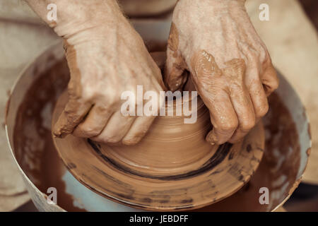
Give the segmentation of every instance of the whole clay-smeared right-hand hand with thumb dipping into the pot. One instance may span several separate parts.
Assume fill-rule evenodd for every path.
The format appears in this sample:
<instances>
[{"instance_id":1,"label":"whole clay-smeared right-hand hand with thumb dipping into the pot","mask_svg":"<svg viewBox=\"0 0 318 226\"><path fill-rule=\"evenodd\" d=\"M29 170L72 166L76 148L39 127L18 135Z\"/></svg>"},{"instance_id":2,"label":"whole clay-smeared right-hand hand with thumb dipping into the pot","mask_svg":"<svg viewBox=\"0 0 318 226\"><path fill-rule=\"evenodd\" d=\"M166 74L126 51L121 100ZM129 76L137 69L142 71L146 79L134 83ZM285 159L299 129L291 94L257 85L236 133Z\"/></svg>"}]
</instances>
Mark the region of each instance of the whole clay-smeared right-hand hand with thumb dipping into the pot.
<instances>
[{"instance_id":1,"label":"whole clay-smeared right-hand hand with thumb dipping into the pot","mask_svg":"<svg viewBox=\"0 0 318 226\"><path fill-rule=\"evenodd\" d=\"M187 70L210 110L211 143L240 141L269 109L278 88L269 52L244 0L179 0L167 47L165 83L182 89Z\"/></svg>"}]
</instances>

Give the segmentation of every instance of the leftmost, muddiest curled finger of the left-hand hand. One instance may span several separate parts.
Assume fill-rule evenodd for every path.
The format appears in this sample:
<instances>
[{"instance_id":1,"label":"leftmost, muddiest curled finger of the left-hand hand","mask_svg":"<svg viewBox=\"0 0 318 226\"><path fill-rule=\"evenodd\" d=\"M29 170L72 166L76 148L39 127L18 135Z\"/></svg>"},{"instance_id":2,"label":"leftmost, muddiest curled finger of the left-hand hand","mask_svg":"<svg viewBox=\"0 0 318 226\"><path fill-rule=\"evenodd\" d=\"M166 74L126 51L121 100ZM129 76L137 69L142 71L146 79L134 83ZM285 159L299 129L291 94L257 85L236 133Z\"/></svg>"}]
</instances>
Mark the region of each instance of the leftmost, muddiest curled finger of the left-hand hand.
<instances>
[{"instance_id":1,"label":"leftmost, muddiest curled finger of the left-hand hand","mask_svg":"<svg viewBox=\"0 0 318 226\"><path fill-rule=\"evenodd\" d=\"M81 102L81 100L71 98L54 125L54 136L63 138L67 134L72 133L73 129L88 114L91 106L89 102Z\"/></svg>"}]
</instances>

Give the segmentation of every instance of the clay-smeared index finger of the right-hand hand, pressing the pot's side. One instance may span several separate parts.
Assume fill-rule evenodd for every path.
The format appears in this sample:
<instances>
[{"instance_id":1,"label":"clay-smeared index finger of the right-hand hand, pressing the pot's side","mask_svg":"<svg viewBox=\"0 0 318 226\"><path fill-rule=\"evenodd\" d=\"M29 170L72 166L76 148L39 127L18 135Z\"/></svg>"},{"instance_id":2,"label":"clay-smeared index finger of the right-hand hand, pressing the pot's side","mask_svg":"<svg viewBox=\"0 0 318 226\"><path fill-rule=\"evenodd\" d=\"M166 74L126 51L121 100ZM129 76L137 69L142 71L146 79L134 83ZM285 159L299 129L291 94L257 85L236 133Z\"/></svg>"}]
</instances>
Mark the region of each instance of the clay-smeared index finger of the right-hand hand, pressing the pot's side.
<instances>
[{"instance_id":1,"label":"clay-smeared index finger of the right-hand hand, pressing the pot's side","mask_svg":"<svg viewBox=\"0 0 318 226\"><path fill-rule=\"evenodd\" d=\"M237 129L238 119L230 100L230 90L211 54L201 51L194 55L192 78L196 90L210 110L213 129L206 140L213 145L225 143Z\"/></svg>"}]
</instances>

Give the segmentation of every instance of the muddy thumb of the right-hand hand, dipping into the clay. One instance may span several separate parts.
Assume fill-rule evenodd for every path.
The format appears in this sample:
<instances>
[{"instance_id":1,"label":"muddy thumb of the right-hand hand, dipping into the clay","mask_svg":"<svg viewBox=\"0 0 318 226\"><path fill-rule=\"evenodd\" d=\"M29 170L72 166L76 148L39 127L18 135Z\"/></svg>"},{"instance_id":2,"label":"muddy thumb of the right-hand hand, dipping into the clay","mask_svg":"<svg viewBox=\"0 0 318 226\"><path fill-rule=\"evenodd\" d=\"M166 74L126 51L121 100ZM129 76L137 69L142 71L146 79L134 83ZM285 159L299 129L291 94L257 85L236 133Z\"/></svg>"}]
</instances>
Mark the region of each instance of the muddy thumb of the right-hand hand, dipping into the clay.
<instances>
[{"instance_id":1,"label":"muddy thumb of the right-hand hand, dipping into the clay","mask_svg":"<svg viewBox=\"0 0 318 226\"><path fill-rule=\"evenodd\" d=\"M183 74L186 69L184 60L178 52L179 33L174 23L171 25L169 40L167 44L167 61L165 64L165 84L172 90L178 90L187 81Z\"/></svg>"}]
</instances>

